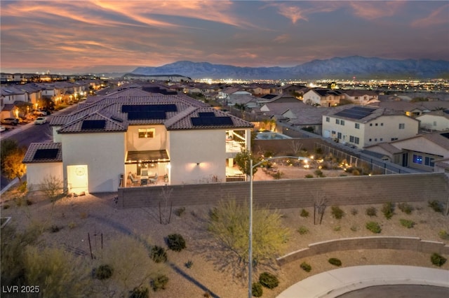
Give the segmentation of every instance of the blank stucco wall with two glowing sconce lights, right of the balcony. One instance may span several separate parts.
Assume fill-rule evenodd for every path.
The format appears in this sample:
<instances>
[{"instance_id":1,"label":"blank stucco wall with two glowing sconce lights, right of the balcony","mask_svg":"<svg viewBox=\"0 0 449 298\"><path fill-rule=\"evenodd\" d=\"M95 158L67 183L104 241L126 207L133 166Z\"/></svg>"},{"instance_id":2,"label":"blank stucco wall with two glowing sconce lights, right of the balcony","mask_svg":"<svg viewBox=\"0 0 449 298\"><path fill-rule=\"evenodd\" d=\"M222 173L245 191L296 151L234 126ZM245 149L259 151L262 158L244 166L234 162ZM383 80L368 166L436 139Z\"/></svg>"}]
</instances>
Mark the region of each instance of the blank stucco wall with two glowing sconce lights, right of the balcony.
<instances>
[{"instance_id":1,"label":"blank stucco wall with two glowing sconce lights, right of the balcony","mask_svg":"<svg viewBox=\"0 0 449 298\"><path fill-rule=\"evenodd\" d=\"M170 131L168 136L170 184L226 180L226 129Z\"/></svg>"}]
</instances>

